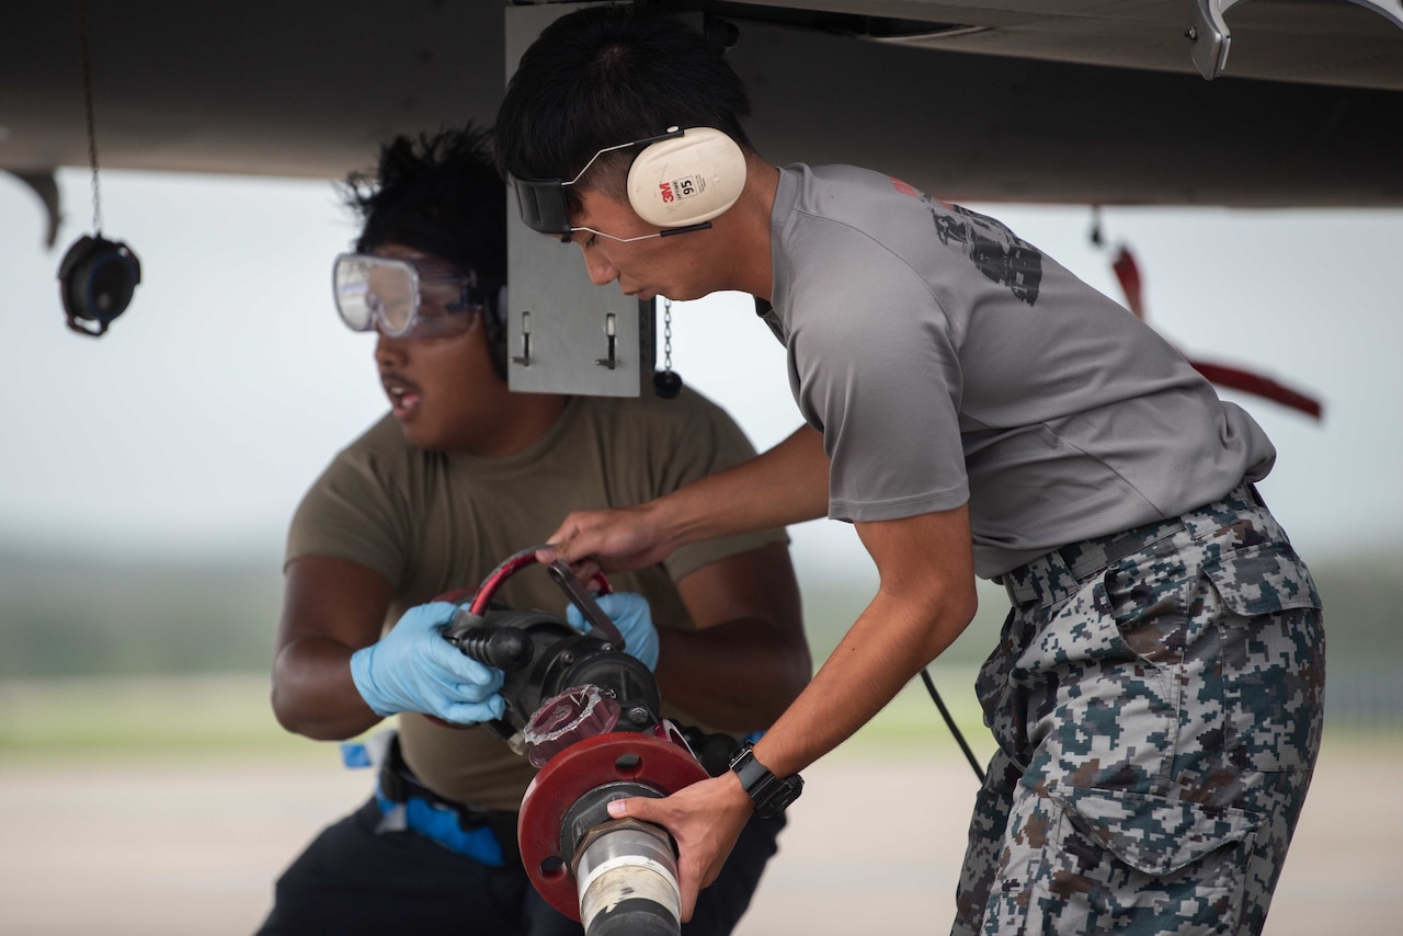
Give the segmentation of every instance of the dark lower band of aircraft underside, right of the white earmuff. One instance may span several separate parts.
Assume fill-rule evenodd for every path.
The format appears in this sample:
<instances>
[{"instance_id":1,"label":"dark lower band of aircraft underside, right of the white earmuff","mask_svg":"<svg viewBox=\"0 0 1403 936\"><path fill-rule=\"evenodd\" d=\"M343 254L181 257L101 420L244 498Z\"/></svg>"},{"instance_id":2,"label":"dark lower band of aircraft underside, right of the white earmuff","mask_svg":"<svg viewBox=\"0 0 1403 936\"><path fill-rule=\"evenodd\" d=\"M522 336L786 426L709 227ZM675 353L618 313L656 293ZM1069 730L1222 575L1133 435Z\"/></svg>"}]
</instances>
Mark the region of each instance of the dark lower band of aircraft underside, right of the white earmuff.
<instances>
[{"instance_id":1,"label":"dark lower band of aircraft underside, right of the white earmuff","mask_svg":"<svg viewBox=\"0 0 1403 936\"><path fill-rule=\"evenodd\" d=\"M870 166L965 201L1403 205L1400 91L1205 81L767 24L742 25L730 55L772 161Z\"/></svg>"}]
</instances>

